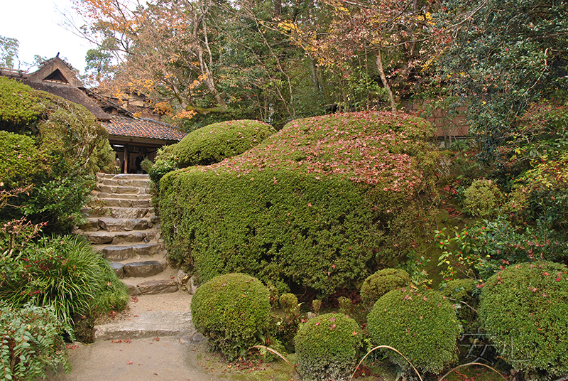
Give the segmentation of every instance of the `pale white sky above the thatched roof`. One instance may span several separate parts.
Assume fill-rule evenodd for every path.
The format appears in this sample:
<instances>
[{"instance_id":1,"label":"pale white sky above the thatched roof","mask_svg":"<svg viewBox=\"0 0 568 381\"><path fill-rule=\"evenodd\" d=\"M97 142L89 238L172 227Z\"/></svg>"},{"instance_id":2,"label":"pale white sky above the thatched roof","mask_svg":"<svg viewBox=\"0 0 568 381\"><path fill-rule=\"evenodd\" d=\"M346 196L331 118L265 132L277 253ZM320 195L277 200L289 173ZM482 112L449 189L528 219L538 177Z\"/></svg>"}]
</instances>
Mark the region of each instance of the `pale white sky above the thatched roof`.
<instances>
[{"instance_id":1,"label":"pale white sky above the thatched roof","mask_svg":"<svg viewBox=\"0 0 568 381\"><path fill-rule=\"evenodd\" d=\"M71 0L0 0L0 10L0 36L19 41L20 61L32 63L34 55L53 58L60 53L60 58L84 74L84 56L93 46L60 26L65 21L62 14L77 20ZM28 70L28 65L20 69Z\"/></svg>"}]
</instances>

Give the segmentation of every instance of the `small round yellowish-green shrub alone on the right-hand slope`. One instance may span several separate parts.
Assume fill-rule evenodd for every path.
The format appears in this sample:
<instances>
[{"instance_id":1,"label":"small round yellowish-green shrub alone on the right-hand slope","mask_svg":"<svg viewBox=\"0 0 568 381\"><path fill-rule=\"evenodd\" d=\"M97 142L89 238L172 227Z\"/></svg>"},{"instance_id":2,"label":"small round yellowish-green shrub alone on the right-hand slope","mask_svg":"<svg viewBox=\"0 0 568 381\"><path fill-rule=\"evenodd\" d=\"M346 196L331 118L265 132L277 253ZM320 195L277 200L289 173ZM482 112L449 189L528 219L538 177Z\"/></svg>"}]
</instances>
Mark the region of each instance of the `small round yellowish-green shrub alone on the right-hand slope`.
<instances>
[{"instance_id":1,"label":"small round yellowish-green shrub alone on the right-hand slope","mask_svg":"<svg viewBox=\"0 0 568 381\"><path fill-rule=\"evenodd\" d=\"M464 204L469 214L480 217L495 215L503 195L491 180L476 180L464 192Z\"/></svg>"}]
</instances>

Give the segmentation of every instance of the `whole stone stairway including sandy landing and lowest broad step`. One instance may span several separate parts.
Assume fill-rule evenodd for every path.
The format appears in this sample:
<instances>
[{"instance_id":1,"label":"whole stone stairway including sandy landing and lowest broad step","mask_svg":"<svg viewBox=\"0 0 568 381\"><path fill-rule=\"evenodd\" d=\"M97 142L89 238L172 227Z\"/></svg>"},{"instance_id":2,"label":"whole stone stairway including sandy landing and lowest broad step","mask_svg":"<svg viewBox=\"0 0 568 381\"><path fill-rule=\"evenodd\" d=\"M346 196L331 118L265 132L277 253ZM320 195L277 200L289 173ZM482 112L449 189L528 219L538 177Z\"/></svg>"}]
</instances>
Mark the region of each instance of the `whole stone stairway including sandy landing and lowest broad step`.
<instances>
[{"instance_id":1,"label":"whole stone stairway including sandy landing and lowest broad step","mask_svg":"<svg viewBox=\"0 0 568 381\"><path fill-rule=\"evenodd\" d=\"M87 223L75 231L109 259L131 294L128 317L94 326L94 340L200 337L190 313L195 287L168 266L149 183L148 175L97 173L92 202L83 210Z\"/></svg>"}]
</instances>

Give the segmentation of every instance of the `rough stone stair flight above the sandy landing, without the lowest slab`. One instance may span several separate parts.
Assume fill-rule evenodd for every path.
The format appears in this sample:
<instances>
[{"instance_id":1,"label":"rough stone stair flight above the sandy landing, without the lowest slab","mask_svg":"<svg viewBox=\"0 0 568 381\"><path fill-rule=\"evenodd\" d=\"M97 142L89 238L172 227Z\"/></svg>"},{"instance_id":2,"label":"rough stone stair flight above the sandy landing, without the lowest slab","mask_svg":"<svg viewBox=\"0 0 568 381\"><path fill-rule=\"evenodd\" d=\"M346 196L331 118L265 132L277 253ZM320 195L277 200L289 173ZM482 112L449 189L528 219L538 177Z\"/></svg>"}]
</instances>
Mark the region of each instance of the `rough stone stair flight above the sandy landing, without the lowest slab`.
<instances>
[{"instance_id":1,"label":"rough stone stair flight above the sandy landing, without the lowest slab","mask_svg":"<svg viewBox=\"0 0 568 381\"><path fill-rule=\"evenodd\" d=\"M93 199L82 212L84 235L111 262L131 295L178 291L153 212L148 175L97 173Z\"/></svg>"}]
</instances>

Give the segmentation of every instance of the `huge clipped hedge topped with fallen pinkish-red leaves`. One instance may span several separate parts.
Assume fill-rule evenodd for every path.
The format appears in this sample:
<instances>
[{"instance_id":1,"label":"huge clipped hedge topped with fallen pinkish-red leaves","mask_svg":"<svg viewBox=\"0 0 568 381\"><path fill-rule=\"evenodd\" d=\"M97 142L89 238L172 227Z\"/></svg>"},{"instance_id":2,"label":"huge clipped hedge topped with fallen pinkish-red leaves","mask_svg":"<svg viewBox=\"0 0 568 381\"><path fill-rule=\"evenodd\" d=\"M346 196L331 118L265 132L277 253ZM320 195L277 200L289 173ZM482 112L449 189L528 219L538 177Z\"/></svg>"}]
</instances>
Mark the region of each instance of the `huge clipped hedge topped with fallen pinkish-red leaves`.
<instances>
[{"instance_id":1,"label":"huge clipped hedge topped with fallen pinkish-red leaves","mask_svg":"<svg viewBox=\"0 0 568 381\"><path fill-rule=\"evenodd\" d=\"M168 173L161 229L201 281L247 272L332 293L400 260L432 192L434 130L406 114L290 122L240 156Z\"/></svg>"}]
</instances>

